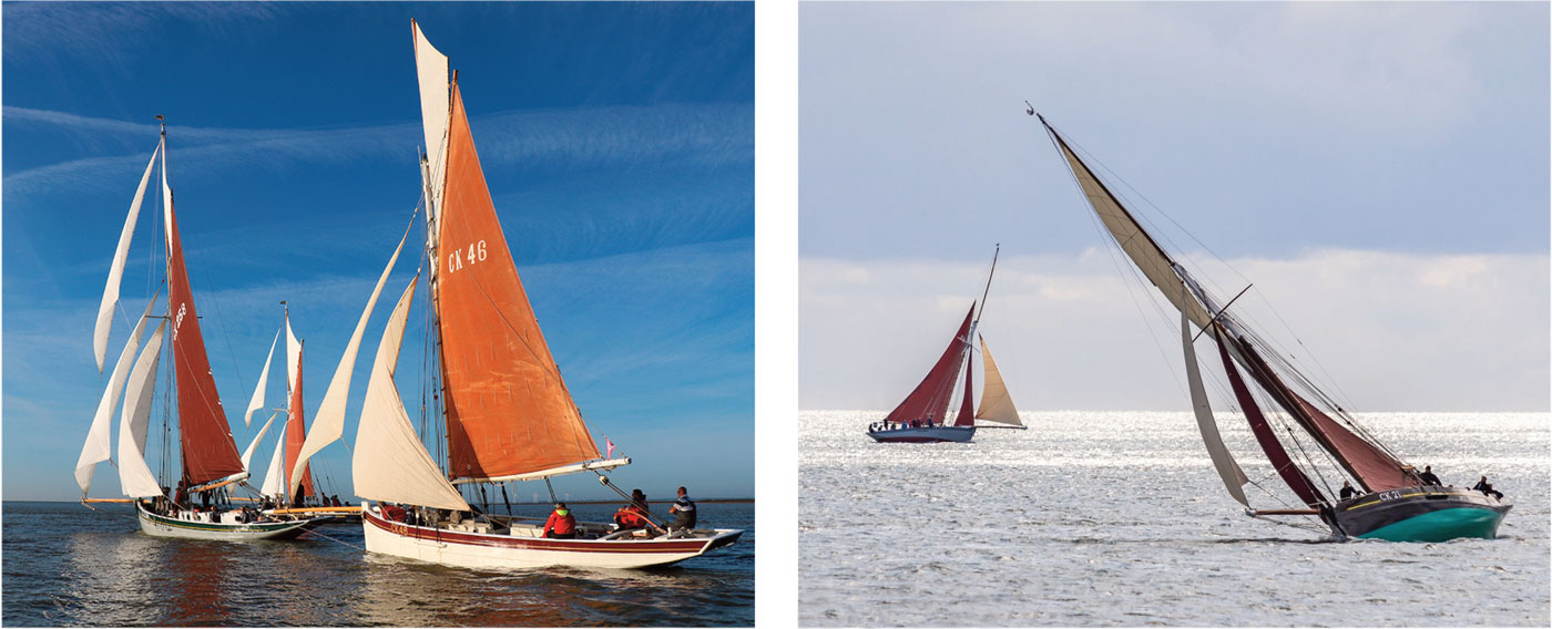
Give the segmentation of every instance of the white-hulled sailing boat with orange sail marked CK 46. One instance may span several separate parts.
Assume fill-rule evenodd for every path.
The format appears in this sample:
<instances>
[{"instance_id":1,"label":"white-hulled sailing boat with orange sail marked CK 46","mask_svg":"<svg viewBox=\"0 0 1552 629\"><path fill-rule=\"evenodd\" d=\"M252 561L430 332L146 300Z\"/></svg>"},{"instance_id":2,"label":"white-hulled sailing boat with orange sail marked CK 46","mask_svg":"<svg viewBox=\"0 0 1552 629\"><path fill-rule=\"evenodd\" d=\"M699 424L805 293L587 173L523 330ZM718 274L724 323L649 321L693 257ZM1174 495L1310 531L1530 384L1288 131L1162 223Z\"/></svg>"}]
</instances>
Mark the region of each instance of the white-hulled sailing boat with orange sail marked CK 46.
<instances>
[{"instance_id":1,"label":"white-hulled sailing boat with orange sail marked CK 46","mask_svg":"<svg viewBox=\"0 0 1552 629\"><path fill-rule=\"evenodd\" d=\"M501 483L504 496L504 483L512 480L548 485L554 476L591 471L618 493L604 471L629 465L630 459L599 454L518 279L475 153L458 77L449 81L447 57L431 48L413 20L411 36L428 147L421 163L427 284L441 347L449 469L427 452L393 381L416 274L377 345L351 459L355 494L363 499L366 550L462 567L639 569L733 544L743 531L650 534L602 524L579 524L574 539L551 539L542 527L517 517L473 514L453 486ZM362 324L402 248L400 239Z\"/></svg>"}]
</instances>

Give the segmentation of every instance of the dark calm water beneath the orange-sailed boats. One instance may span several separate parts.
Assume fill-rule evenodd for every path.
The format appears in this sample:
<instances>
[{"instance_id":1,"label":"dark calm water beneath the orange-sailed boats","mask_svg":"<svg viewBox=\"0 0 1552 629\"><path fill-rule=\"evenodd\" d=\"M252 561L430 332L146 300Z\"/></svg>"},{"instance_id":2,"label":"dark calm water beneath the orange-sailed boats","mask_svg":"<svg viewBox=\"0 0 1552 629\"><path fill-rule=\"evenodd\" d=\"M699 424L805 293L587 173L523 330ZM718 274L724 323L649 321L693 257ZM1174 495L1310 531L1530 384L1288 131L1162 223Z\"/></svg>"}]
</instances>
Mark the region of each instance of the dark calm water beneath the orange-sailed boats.
<instances>
[{"instance_id":1,"label":"dark calm water beneath the orange-sailed boats","mask_svg":"<svg viewBox=\"0 0 1552 629\"><path fill-rule=\"evenodd\" d=\"M318 530L332 539L203 542L140 533L129 505L5 502L3 624L754 624L754 505L698 507L703 527L743 538L653 572L492 572L368 556L359 522ZM573 508L604 522L615 510Z\"/></svg>"}]
</instances>

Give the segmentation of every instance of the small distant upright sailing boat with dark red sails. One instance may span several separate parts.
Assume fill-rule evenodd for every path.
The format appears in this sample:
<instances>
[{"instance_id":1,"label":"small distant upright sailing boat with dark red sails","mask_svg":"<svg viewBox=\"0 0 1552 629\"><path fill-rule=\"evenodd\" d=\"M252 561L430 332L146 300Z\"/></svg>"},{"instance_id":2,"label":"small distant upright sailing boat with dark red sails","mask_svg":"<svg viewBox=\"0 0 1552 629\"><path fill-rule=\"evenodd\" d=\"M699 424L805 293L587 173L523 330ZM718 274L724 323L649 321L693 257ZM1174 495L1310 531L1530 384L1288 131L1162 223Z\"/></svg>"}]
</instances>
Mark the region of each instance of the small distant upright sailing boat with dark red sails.
<instances>
[{"instance_id":1,"label":"small distant upright sailing boat with dark red sails","mask_svg":"<svg viewBox=\"0 0 1552 629\"><path fill-rule=\"evenodd\" d=\"M986 311L986 296L992 290L992 274L996 273L996 254L1001 249L999 245L996 253L992 254L992 271L987 273L986 291L981 293L981 311ZM922 383L905 397L900 406L889 411L889 415L883 421L868 424L868 437L883 443L967 443L975 438L975 420L978 415L972 400L975 387L970 376L970 339L975 338L975 328L979 324L981 318L976 314L976 304L972 302L964 322L959 324L959 330L954 332L944 353L937 356L937 363L933 363L933 369L927 372L927 378L922 378ZM981 342L984 344L986 341L982 339ZM986 401L990 398L995 406L993 412L999 421L1006 423L1009 414L1012 414L1012 420L1017 423L1018 411L1013 409L1013 403L1007 397L1003 376L996 372L996 364L990 363L992 355L984 352L982 355L990 367L987 370L989 378L996 378L995 389L990 387L989 380L987 394L981 400L982 411L986 409ZM954 423L950 424L948 403L954 394L954 383L959 380L961 370L965 373L964 401L959 404Z\"/></svg>"}]
</instances>

